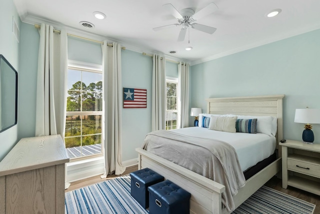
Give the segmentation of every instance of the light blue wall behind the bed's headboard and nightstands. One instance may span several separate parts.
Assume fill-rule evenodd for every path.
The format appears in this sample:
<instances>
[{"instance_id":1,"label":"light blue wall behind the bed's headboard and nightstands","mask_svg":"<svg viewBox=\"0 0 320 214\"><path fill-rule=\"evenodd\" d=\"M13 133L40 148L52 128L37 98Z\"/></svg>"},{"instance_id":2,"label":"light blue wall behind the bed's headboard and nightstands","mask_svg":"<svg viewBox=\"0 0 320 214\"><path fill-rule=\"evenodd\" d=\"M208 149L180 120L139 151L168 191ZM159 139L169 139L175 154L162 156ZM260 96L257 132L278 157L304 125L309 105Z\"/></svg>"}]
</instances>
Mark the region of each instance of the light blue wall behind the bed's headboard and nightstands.
<instances>
[{"instance_id":1,"label":"light blue wall behind the bed's headboard and nightstands","mask_svg":"<svg viewBox=\"0 0 320 214\"><path fill-rule=\"evenodd\" d=\"M301 140L295 109L320 108L319 38L316 30L191 66L190 107L206 112L205 98L284 94L284 138ZM312 130L320 143L320 124Z\"/></svg>"}]
</instances>

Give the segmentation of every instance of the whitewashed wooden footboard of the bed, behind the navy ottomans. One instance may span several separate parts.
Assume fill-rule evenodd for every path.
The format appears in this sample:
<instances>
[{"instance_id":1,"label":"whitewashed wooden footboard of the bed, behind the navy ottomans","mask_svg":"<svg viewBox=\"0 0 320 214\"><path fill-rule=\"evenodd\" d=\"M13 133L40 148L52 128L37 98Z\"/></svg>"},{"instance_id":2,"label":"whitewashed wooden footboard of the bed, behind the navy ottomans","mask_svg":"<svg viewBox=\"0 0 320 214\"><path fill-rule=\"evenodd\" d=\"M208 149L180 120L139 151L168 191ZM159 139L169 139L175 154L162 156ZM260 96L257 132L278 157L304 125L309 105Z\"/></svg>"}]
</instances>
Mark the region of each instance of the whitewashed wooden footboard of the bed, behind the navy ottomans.
<instances>
[{"instance_id":1,"label":"whitewashed wooden footboard of the bed, behind the navy ottomans","mask_svg":"<svg viewBox=\"0 0 320 214\"><path fill-rule=\"evenodd\" d=\"M225 186L141 148L138 169L150 168L191 193L190 213L221 213L221 193Z\"/></svg>"}]
</instances>

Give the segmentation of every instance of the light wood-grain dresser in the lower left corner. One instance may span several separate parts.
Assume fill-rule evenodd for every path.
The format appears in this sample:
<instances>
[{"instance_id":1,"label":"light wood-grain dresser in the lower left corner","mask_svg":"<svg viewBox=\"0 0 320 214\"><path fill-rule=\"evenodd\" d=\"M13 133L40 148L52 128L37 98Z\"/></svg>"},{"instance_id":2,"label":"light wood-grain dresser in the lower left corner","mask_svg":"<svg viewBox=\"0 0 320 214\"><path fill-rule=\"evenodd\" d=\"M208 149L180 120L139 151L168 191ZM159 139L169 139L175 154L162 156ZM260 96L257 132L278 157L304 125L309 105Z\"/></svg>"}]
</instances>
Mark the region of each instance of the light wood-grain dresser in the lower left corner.
<instances>
[{"instance_id":1,"label":"light wood-grain dresser in the lower left corner","mask_svg":"<svg viewBox=\"0 0 320 214\"><path fill-rule=\"evenodd\" d=\"M0 162L0 213L64 213L60 135L22 138Z\"/></svg>"}]
</instances>

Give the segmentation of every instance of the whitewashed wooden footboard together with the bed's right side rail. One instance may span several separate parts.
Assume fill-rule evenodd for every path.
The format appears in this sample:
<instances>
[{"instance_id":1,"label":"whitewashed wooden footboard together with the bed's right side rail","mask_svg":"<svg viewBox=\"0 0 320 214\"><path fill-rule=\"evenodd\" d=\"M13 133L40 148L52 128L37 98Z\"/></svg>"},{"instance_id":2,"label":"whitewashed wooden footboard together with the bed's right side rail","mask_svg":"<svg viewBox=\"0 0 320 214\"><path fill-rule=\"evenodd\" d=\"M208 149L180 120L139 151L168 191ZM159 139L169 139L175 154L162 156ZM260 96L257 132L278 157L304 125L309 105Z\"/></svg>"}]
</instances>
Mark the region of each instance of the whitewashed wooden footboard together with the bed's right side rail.
<instances>
[{"instance_id":1,"label":"whitewashed wooden footboard together with the bed's right side rail","mask_svg":"<svg viewBox=\"0 0 320 214\"><path fill-rule=\"evenodd\" d=\"M223 208L221 200L221 193L225 191L224 185L144 149L136 148L135 150L138 152L138 169L148 167L191 193L190 213L228 213ZM280 170L280 159L278 158L246 181L245 186L233 197L236 207Z\"/></svg>"}]
</instances>

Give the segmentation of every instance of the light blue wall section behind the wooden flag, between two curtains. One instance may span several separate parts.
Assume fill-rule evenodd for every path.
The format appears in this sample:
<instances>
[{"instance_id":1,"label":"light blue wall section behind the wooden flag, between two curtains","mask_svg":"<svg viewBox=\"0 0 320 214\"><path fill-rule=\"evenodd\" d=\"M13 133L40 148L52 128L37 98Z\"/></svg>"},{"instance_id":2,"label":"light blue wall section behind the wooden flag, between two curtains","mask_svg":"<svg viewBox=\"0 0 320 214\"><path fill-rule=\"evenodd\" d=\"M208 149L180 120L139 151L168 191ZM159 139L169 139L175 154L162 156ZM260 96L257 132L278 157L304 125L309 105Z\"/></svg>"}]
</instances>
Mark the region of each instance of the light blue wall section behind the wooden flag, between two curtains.
<instances>
[{"instance_id":1,"label":"light blue wall section behind the wooden flag, between two curtains","mask_svg":"<svg viewBox=\"0 0 320 214\"><path fill-rule=\"evenodd\" d=\"M137 158L135 148L141 147L151 131L152 58L133 51L121 52L122 87L146 89L146 108L122 109L122 160Z\"/></svg>"}]
</instances>

